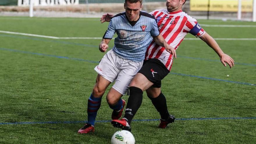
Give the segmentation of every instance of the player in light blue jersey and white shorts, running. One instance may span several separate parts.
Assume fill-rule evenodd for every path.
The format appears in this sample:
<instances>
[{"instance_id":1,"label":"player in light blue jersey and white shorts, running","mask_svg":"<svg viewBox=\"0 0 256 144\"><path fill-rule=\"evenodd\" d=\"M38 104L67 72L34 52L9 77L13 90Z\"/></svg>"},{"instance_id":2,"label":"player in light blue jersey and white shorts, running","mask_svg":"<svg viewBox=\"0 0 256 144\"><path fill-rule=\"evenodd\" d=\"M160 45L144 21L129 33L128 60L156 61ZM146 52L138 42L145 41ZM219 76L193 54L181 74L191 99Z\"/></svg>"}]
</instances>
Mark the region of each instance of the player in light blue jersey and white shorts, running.
<instances>
[{"instance_id":1,"label":"player in light blue jersey and white shorts, running","mask_svg":"<svg viewBox=\"0 0 256 144\"><path fill-rule=\"evenodd\" d=\"M146 49L152 40L176 57L174 48L160 35L154 16L141 11L142 0L125 0L124 7L125 12L111 19L99 45L99 50L105 52L113 35L117 33L118 37L115 38L113 49L108 51L95 67L98 75L88 99L88 122L79 129L80 134L94 132L95 118L102 96L114 81L115 84L106 99L113 109L112 119L117 120L121 117L125 107L125 101L121 97L125 95L131 80L141 69Z\"/></svg>"}]
</instances>

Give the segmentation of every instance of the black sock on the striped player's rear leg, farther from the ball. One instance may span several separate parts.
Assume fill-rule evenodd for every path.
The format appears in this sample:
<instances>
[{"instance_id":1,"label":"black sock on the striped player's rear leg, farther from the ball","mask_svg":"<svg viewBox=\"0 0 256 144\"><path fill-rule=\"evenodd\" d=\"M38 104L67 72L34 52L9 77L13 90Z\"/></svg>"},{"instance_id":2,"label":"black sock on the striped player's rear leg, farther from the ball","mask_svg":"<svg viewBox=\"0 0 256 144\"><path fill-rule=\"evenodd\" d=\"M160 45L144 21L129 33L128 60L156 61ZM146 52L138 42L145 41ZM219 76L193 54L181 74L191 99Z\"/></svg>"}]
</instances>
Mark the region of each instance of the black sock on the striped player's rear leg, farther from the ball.
<instances>
[{"instance_id":1,"label":"black sock on the striped player's rear leg, farther from the ball","mask_svg":"<svg viewBox=\"0 0 256 144\"><path fill-rule=\"evenodd\" d=\"M151 99L151 102L153 103L157 111L160 113L161 119L167 120L170 114L167 109L166 98L162 94L162 92L156 98L152 98L152 97L149 97L149 98Z\"/></svg>"}]
</instances>

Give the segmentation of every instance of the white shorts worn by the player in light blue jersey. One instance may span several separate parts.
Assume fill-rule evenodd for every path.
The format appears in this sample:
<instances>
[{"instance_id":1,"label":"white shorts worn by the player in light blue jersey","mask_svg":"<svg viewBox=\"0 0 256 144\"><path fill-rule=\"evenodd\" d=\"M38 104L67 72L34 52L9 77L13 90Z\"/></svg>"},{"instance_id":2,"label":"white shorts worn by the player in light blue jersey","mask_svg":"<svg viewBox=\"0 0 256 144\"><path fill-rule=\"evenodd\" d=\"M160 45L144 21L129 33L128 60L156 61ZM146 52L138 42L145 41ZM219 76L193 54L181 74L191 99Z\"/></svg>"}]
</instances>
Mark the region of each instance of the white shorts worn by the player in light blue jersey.
<instances>
[{"instance_id":1,"label":"white shorts worn by the player in light blue jersey","mask_svg":"<svg viewBox=\"0 0 256 144\"><path fill-rule=\"evenodd\" d=\"M120 58L111 49L104 55L94 70L108 81L115 81L112 88L125 95L131 80L141 69L142 65L143 61L135 62Z\"/></svg>"}]
</instances>

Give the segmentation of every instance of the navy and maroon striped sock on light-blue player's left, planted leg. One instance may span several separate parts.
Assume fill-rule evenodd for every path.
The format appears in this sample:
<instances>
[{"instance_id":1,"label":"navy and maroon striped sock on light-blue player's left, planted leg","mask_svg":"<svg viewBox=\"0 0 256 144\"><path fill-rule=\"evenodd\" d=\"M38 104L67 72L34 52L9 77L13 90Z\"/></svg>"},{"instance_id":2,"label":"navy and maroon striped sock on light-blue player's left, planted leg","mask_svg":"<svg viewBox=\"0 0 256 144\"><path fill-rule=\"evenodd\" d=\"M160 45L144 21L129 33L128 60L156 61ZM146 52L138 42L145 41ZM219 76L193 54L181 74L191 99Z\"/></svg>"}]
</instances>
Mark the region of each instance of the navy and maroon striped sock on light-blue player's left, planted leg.
<instances>
[{"instance_id":1,"label":"navy and maroon striped sock on light-blue player's left, planted leg","mask_svg":"<svg viewBox=\"0 0 256 144\"><path fill-rule=\"evenodd\" d=\"M90 98L88 99L88 107L87 107L87 113L88 113L88 123L94 126L94 122L96 119L97 111L100 108L101 104L101 98L93 97L91 94Z\"/></svg>"}]
</instances>

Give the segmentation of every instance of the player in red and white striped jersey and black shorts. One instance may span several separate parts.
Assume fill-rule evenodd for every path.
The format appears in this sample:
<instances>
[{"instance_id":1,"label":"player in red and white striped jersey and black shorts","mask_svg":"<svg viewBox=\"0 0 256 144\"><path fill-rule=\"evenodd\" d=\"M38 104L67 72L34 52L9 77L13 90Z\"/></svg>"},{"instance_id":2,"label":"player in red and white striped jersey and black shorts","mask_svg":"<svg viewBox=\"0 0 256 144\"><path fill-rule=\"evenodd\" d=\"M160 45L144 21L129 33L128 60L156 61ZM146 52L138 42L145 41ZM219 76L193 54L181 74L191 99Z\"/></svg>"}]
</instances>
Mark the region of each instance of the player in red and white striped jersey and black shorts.
<instances>
[{"instance_id":1,"label":"player in red and white striped jersey and black shorts","mask_svg":"<svg viewBox=\"0 0 256 144\"><path fill-rule=\"evenodd\" d=\"M234 66L234 60L221 50L217 42L200 27L196 19L182 11L185 2L186 0L167 0L167 9L154 10L150 13L157 19L159 31L166 42L176 50L186 34L191 33L205 41L218 54L224 66L227 66L226 63L230 68ZM101 21L109 21L110 17L112 17L111 14L105 14ZM113 120L111 123L114 127L131 130L130 123L141 106L144 90L160 113L159 127L165 128L169 123L174 122L175 117L169 114L166 98L161 93L161 80L170 72L173 57L154 40L151 42L146 51L143 67L130 83L130 97L125 116L121 120Z\"/></svg>"}]
</instances>

